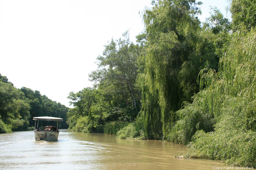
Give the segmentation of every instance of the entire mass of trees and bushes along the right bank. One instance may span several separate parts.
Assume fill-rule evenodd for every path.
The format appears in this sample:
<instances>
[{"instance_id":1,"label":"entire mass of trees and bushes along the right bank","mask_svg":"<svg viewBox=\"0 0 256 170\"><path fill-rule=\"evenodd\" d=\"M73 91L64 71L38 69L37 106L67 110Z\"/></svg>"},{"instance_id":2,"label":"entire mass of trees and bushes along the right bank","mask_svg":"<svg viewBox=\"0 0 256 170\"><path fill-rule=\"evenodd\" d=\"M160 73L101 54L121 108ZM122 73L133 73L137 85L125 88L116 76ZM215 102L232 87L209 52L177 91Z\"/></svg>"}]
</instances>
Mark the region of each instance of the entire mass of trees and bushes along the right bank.
<instances>
[{"instance_id":1,"label":"entire mass of trees and bushes along the right bank","mask_svg":"<svg viewBox=\"0 0 256 170\"><path fill-rule=\"evenodd\" d=\"M105 46L95 87L69 94L70 129L188 145L188 157L256 167L255 0L230 0L232 21L200 1L158 0L137 44Z\"/></svg>"}]
</instances>

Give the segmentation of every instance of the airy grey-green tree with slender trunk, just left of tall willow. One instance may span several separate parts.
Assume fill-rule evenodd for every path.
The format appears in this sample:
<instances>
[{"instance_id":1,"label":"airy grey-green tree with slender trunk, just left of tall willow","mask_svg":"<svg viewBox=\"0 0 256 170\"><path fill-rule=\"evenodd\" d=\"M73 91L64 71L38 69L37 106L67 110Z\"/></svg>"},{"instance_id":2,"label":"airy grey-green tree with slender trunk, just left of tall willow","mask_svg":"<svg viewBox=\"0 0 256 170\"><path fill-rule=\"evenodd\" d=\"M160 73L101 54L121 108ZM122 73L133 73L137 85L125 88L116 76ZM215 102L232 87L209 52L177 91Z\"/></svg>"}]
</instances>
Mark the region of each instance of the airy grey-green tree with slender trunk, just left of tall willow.
<instances>
[{"instance_id":1,"label":"airy grey-green tree with slender trunk, just left of tall willow","mask_svg":"<svg viewBox=\"0 0 256 170\"><path fill-rule=\"evenodd\" d=\"M126 101L131 104L137 115L140 109L140 91L136 89L138 66L136 61L140 55L139 45L129 41L128 32L123 34L123 39L112 41L105 46L102 56L98 56L98 70L91 72L91 80L101 84L113 84L116 91L126 96ZM104 85L105 86L105 85ZM139 103L139 104L138 104ZM128 103L129 104L129 103Z\"/></svg>"}]
</instances>

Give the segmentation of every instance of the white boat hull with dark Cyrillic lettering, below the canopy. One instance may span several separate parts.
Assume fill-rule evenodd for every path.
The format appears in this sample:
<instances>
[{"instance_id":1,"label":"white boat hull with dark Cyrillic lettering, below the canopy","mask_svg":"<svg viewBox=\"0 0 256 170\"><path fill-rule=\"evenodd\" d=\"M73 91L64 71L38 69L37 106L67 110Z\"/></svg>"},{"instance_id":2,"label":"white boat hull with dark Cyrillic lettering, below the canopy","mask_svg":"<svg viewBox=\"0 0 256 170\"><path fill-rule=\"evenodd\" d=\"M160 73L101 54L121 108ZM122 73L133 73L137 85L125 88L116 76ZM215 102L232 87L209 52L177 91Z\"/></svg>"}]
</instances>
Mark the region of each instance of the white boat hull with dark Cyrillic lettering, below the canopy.
<instances>
[{"instance_id":1,"label":"white boat hull with dark Cyrillic lettering, below the canopy","mask_svg":"<svg viewBox=\"0 0 256 170\"><path fill-rule=\"evenodd\" d=\"M44 130L44 131L35 131L35 141L58 141L59 132Z\"/></svg>"}]
</instances>

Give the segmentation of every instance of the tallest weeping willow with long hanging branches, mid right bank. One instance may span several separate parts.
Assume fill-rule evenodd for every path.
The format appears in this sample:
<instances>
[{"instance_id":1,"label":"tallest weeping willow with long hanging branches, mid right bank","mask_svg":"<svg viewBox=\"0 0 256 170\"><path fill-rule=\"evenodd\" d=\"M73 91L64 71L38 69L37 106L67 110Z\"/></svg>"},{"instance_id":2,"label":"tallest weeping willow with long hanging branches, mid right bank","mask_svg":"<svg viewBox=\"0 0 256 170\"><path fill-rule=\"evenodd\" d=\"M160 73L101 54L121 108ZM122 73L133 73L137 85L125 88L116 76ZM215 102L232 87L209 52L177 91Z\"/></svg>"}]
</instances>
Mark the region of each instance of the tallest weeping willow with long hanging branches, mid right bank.
<instances>
[{"instance_id":1,"label":"tallest weeping willow with long hanging branches, mid right bank","mask_svg":"<svg viewBox=\"0 0 256 170\"><path fill-rule=\"evenodd\" d=\"M141 80L144 87L140 115L145 129L150 130L159 122L162 129L147 131L148 138L155 138L157 131L165 135L166 127L176 120L174 112L197 92L196 77L201 62L195 50L201 29L197 5L201 2L159 0L152 3L154 7L143 13L148 48Z\"/></svg>"}]
</instances>

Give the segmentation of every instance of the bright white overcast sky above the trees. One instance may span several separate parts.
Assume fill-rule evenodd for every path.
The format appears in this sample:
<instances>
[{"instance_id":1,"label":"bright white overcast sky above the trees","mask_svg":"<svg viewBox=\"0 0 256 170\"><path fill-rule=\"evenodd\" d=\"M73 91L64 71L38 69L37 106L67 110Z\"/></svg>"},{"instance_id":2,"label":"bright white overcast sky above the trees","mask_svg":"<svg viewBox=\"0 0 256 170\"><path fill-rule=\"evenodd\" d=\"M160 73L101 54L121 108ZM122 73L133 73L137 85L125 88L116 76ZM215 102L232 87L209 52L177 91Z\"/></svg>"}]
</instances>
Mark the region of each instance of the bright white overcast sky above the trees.
<instances>
[{"instance_id":1,"label":"bright white overcast sky above the trees","mask_svg":"<svg viewBox=\"0 0 256 170\"><path fill-rule=\"evenodd\" d=\"M226 0L201 0L202 16L210 5L226 16ZM151 0L0 0L0 73L17 88L69 106L69 92L92 86L104 45L129 29L143 31L141 12ZM140 11L140 14L139 14Z\"/></svg>"}]
</instances>

